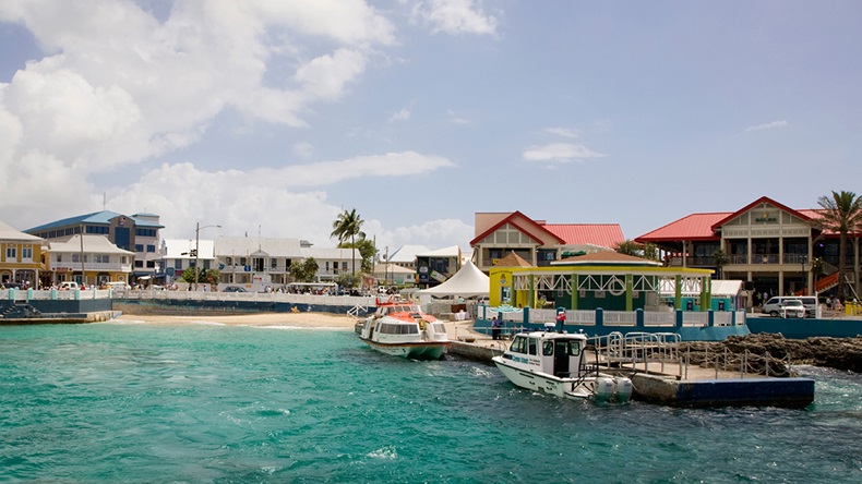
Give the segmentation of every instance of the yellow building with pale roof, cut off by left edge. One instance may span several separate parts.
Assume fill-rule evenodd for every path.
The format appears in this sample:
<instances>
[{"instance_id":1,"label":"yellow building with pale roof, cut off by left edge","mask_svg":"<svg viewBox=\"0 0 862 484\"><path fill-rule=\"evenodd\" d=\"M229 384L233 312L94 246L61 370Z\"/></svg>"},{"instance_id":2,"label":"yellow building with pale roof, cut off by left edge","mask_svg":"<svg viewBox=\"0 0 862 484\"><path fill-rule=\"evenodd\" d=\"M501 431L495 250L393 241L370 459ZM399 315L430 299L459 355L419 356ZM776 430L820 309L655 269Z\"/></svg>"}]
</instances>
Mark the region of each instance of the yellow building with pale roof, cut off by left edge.
<instances>
[{"instance_id":1,"label":"yellow building with pale roof, cut off by left edge","mask_svg":"<svg viewBox=\"0 0 862 484\"><path fill-rule=\"evenodd\" d=\"M0 221L0 283L37 287L50 280L43 261L43 239Z\"/></svg>"}]
</instances>

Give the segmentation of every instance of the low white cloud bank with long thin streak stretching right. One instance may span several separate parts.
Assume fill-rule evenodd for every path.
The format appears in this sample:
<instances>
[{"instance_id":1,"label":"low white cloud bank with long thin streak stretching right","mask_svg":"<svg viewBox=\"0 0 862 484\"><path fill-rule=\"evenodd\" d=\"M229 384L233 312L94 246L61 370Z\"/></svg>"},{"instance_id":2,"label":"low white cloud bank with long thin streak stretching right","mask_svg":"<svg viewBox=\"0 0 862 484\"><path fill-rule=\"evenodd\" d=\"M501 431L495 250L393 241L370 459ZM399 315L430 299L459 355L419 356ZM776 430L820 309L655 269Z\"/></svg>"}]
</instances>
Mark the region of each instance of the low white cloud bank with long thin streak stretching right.
<instances>
[{"instance_id":1,"label":"low white cloud bank with long thin streak stretching right","mask_svg":"<svg viewBox=\"0 0 862 484\"><path fill-rule=\"evenodd\" d=\"M145 208L159 214L161 225L172 233L166 235L169 238L188 234L195 221L206 220L220 225L225 234L247 230L256 233L258 225L262 225L266 237L302 238L327 246L333 243L328 234L340 208L330 205L326 192L314 187L381 174L424 174L452 166L445 158L414 152L277 169L206 171L189 162L166 164L144 173L130 186L112 189L108 193L108 209L131 214ZM219 193L231 195L206 195ZM419 233L423 239L433 234Z\"/></svg>"}]
</instances>

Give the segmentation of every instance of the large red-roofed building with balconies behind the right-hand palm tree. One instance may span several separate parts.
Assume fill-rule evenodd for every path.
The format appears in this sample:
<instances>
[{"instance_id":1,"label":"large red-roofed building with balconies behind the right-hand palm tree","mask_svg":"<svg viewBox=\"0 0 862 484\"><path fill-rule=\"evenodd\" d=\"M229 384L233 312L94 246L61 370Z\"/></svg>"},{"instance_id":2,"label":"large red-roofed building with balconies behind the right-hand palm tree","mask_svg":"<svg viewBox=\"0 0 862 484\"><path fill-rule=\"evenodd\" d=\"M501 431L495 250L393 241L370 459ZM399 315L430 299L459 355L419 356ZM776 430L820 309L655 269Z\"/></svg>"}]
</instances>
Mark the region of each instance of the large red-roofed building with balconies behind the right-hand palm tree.
<instances>
[{"instance_id":1,"label":"large red-roofed building with balconies behind the right-hand palm tree","mask_svg":"<svg viewBox=\"0 0 862 484\"><path fill-rule=\"evenodd\" d=\"M840 280L839 234L819 230L818 217L815 209L763 196L734 211L685 216L635 241L655 244L667 266L714 269L718 278L741 279L758 294L813 294ZM860 235L848 238L843 277L857 293Z\"/></svg>"}]
</instances>

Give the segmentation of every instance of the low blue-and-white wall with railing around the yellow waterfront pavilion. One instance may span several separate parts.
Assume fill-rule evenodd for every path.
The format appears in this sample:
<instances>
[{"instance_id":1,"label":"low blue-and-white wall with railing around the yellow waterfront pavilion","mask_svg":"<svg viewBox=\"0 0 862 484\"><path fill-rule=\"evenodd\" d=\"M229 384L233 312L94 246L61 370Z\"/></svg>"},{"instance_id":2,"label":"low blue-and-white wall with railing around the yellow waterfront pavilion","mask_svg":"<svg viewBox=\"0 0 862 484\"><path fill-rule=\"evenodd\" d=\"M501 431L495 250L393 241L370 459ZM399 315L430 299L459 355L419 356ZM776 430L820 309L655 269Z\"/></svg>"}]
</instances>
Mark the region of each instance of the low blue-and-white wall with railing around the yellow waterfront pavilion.
<instances>
[{"instance_id":1,"label":"low blue-and-white wall with railing around the yellow waterfront pavilion","mask_svg":"<svg viewBox=\"0 0 862 484\"><path fill-rule=\"evenodd\" d=\"M556 310L531 310L529 307L514 312L498 312L491 306L479 306L474 329L491 332L491 319L503 320L503 334L511 335L524 330L547 329L552 324L560 330ZM747 335L751 331L746 324L744 311L732 312L689 312L689 311L606 311L565 310L565 324L562 329L567 332L584 332L587 336L607 336L611 332L674 332L683 341L721 341L732 335ZM787 320L787 319L782 319Z\"/></svg>"}]
</instances>

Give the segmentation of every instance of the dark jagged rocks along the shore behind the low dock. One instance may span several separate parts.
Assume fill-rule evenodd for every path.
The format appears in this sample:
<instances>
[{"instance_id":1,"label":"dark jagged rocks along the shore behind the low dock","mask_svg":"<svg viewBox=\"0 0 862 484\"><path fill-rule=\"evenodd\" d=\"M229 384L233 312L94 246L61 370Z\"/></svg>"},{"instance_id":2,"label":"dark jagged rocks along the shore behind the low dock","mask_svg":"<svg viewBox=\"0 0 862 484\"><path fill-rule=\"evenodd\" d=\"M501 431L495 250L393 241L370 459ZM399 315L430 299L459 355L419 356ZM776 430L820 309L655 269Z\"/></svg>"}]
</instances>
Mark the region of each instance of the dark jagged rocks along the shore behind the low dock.
<instances>
[{"instance_id":1,"label":"dark jagged rocks along the shore behind the low dock","mask_svg":"<svg viewBox=\"0 0 862 484\"><path fill-rule=\"evenodd\" d=\"M770 355L769 373L779 376L786 373L775 360L785 360L790 364L809 364L841 371L862 373L862 338L814 337L804 340L787 339L781 334L757 334L730 336L721 342L693 341L682 343L682 352L690 352L692 361L703 361L707 354L729 352L762 356ZM764 365L759 370L766 373Z\"/></svg>"}]
</instances>

